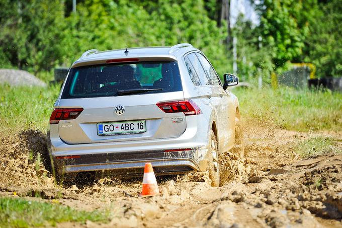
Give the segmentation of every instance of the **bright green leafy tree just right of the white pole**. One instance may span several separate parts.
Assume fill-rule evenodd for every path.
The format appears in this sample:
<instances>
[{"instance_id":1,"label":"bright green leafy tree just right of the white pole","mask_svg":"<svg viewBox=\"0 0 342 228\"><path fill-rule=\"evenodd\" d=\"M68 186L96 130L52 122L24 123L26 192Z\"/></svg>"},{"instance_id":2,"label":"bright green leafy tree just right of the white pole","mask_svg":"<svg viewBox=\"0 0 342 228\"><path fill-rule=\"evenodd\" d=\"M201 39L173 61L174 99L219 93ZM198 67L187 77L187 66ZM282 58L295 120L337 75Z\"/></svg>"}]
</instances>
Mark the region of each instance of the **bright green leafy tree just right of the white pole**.
<instances>
[{"instance_id":1,"label":"bright green leafy tree just right of the white pole","mask_svg":"<svg viewBox=\"0 0 342 228\"><path fill-rule=\"evenodd\" d=\"M302 53L308 33L307 25L298 24L303 3L296 0L264 0L258 5L261 16L259 26L263 45L270 46L274 63L281 67L286 61ZM302 20L306 18L301 16Z\"/></svg>"}]
</instances>

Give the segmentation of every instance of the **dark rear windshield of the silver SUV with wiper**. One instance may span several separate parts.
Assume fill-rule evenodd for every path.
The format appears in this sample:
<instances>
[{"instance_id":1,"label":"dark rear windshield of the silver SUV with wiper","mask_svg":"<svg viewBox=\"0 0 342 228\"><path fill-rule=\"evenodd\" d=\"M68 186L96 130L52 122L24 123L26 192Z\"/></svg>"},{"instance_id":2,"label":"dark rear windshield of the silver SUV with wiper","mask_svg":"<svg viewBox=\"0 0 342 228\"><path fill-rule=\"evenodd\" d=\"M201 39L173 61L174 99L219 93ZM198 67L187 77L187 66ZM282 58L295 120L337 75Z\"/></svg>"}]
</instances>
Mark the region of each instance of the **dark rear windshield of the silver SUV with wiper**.
<instances>
[{"instance_id":1,"label":"dark rear windshield of the silver SUV with wiper","mask_svg":"<svg viewBox=\"0 0 342 228\"><path fill-rule=\"evenodd\" d=\"M134 93L127 93L134 92ZM88 65L71 68L62 99L182 91L176 61Z\"/></svg>"}]
</instances>

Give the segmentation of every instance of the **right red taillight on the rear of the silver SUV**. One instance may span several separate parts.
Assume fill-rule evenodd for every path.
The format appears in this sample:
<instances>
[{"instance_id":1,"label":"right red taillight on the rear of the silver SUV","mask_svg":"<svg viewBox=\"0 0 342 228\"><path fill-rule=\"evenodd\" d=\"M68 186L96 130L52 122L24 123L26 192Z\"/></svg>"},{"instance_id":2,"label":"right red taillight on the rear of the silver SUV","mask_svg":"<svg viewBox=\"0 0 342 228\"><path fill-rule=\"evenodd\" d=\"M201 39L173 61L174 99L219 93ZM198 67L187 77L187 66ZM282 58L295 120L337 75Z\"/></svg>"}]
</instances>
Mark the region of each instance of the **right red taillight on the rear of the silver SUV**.
<instances>
[{"instance_id":1,"label":"right red taillight on the rear of the silver SUV","mask_svg":"<svg viewBox=\"0 0 342 228\"><path fill-rule=\"evenodd\" d=\"M166 113L183 112L186 116L201 114L201 109L192 100L158 102L156 104Z\"/></svg>"}]
</instances>

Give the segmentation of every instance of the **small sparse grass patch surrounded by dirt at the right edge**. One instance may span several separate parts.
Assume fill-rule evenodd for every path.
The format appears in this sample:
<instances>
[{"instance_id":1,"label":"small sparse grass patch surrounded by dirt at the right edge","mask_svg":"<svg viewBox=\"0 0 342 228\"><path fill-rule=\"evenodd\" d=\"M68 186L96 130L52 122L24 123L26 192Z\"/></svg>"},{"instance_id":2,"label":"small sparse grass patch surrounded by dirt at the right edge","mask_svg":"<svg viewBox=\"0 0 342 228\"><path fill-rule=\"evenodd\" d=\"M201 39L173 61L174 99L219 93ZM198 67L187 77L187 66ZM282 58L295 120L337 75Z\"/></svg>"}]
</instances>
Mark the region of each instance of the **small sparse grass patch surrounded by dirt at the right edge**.
<instances>
[{"instance_id":1,"label":"small sparse grass patch surrounded by dirt at the right edge","mask_svg":"<svg viewBox=\"0 0 342 228\"><path fill-rule=\"evenodd\" d=\"M314 136L298 143L294 151L302 158L327 153L342 153L341 147L337 144L337 139L322 136Z\"/></svg>"}]
</instances>

